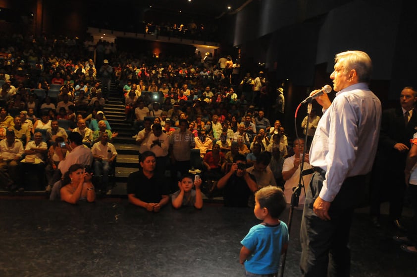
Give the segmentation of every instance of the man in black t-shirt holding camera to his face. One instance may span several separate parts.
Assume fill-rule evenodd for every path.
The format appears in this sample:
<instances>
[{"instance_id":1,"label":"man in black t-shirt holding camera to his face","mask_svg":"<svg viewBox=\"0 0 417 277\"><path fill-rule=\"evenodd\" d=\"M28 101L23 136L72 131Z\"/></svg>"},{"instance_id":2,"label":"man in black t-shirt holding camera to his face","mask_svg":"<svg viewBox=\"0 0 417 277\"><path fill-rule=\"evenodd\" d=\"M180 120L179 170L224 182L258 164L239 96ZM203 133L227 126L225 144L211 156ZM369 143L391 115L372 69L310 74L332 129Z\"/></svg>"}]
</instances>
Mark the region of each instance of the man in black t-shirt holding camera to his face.
<instances>
[{"instance_id":1,"label":"man in black t-shirt holding camera to his face","mask_svg":"<svg viewBox=\"0 0 417 277\"><path fill-rule=\"evenodd\" d=\"M217 182L223 189L223 202L226 207L248 207L248 201L257 190L255 176L246 171L246 158L237 154L230 170Z\"/></svg>"}]
</instances>

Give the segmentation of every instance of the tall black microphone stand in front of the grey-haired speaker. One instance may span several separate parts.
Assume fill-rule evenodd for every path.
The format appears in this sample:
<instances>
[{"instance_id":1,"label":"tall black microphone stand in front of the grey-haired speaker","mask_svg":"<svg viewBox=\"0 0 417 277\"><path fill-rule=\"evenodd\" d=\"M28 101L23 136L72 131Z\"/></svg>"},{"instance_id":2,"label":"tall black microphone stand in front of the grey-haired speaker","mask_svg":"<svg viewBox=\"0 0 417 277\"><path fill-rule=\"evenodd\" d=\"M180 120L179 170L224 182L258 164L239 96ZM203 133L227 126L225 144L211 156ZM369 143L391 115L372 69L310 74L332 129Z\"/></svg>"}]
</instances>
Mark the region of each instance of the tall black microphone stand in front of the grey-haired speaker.
<instances>
[{"instance_id":1,"label":"tall black microphone stand in front of the grey-haired speaker","mask_svg":"<svg viewBox=\"0 0 417 277\"><path fill-rule=\"evenodd\" d=\"M303 155L303 160L300 160L300 176L298 178L298 186L293 187L293 193L291 195L290 212L288 214L288 224L287 224L288 234L290 234L290 232L291 232L294 207L298 207L298 202L299 202L299 199L300 199L301 190L304 189L304 193L306 193L304 185L301 184L301 180L303 178L304 158L305 158L305 154L306 154L306 151L307 151L307 135L308 135L308 130L309 130L309 118L310 118L311 111L312 111L312 103L310 101L310 103L307 105L306 136L305 136L304 148L303 148L303 152L302 152L303 153L302 154ZM295 127L296 127L296 130L297 130L297 115L294 118L294 124L296 125ZM298 136L297 136L297 138L298 138ZM301 153L301 152L299 151L299 153ZM287 250L285 250L285 252L282 254L282 264L281 264L281 275L280 275L280 277L284 276L284 269L285 269L286 259L287 259Z\"/></svg>"}]
</instances>

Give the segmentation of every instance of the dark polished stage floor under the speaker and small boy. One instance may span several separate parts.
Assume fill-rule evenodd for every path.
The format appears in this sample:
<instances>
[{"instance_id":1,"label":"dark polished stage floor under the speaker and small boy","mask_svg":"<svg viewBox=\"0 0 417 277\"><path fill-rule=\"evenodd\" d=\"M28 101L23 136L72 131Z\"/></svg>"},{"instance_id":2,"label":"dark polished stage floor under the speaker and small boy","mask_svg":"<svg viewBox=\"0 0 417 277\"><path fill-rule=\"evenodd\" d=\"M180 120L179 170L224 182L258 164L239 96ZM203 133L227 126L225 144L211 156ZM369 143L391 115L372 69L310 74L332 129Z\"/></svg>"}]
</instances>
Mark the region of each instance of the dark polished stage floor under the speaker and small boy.
<instances>
[{"instance_id":1,"label":"dark polished stage floor under the speaker and small boy","mask_svg":"<svg viewBox=\"0 0 417 277\"><path fill-rule=\"evenodd\" d=\"M242 277L240 240L259 223L249 208L212 203L153 214L118 198L0 199L0 211L0 277ZM286 277L300 276L301 213L294 211ZM417 255L401 251L394 234L373 229L358 210L351 276L416 277Z\"/></svg>"}]
</instances>

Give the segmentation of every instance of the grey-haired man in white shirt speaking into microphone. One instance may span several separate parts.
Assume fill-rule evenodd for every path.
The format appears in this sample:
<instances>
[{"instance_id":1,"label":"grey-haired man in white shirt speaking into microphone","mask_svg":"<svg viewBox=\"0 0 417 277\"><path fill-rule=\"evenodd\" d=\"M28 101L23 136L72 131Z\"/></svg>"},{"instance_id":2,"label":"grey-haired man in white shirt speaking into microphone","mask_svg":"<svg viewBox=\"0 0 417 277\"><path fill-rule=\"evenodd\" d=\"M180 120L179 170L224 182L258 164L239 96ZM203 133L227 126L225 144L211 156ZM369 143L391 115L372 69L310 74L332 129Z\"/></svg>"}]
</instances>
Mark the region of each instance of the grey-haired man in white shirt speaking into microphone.
<instances>
[{"instance_id":1,"label":"grey-haired man in white shirt speaking into microphone","mask_svg":"<svg viewBox=\"0 0 417 277\"><path fill-rule=\"evenodd\" d=\"M336 55L336 97L323 107L310 149L315 171L306 193L300 241L302 276L350 276L349 230L365 191L381 123L381 102L368 88L372 62L362 51ZM311 95L318 92L314 90Z\"/></svg>"}]
</instances>

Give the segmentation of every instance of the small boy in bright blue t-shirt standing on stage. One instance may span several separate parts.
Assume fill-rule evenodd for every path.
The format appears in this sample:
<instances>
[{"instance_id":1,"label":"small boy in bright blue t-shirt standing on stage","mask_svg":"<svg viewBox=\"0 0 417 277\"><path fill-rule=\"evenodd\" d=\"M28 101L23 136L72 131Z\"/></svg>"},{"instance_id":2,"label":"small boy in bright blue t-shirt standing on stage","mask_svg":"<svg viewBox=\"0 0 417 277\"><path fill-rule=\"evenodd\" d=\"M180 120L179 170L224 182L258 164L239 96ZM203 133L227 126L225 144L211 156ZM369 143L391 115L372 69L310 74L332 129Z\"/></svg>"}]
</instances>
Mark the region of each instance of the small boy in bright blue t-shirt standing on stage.
<instances>
[{"instance_id":1,"label":"small boy in bright blue t-shirt standing on stage","mask_svg":"<svg viewBox=\"0 0 417 277\"><path fill-rule=\"evenodd\" d=\"M288 227L278 217L286 201L281 189L267 186L255 194L255 216L261 224L251 228L241 241L240 263L245 265L245 277L276 277L281 254L288 246Z\"/></svg>"}]
</instances>

